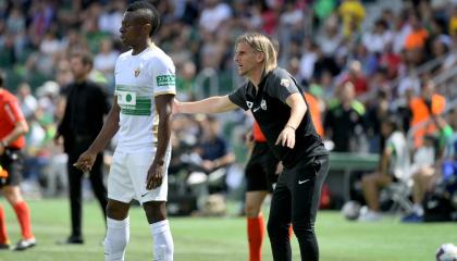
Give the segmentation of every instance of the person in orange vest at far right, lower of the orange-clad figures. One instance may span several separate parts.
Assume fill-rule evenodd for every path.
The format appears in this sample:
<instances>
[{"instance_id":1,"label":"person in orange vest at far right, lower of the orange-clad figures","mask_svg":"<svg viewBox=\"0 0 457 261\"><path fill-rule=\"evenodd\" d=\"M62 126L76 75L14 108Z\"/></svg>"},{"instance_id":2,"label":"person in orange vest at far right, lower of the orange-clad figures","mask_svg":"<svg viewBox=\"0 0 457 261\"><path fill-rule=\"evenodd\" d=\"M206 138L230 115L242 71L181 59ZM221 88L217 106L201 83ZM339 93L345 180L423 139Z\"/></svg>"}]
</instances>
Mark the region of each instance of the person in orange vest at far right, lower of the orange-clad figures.
<instances>
[{"instance_id":1,"label":"person in orange vest at far right, lower of the orange-clad figures","mask_svg":"<svg viewBox=\"0 0 457 261\"><path fill-rule=\"evenodd\" d=\"M412 98L409 102L409 110L411 111L410 128L416 129L413 130L415 148L422 145L425 135L437 130L435 124L430 121L430 115L442 114L445 107L446 99L435 94L434 83L431 79L425 80L422 85L421 96Z\"/></svg>"}]
</instances>

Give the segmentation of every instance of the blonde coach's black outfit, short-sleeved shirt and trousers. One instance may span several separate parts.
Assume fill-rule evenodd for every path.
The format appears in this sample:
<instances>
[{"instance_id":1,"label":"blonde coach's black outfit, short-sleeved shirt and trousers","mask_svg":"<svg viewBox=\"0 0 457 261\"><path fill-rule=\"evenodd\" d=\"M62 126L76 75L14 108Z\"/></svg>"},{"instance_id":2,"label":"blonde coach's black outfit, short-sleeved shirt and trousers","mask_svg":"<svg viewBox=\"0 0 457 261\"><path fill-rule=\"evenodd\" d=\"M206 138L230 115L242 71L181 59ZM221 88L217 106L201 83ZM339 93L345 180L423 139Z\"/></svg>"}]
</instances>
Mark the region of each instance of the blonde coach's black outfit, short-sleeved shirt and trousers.
<instances>
[{"instance_id":1,"label":"blonde coach's black outfit, short-sleeved shirt and trousers","mask_svg":"<svg viewBox=\"0 0 457 261\"><path fill-rule=\"evenodd\" d=\"M291 117L286 99L304 90L287 71L276 67L264 75L256 91L248 82L228 99L250 110L284 171L273 190L268 232L275 261L292 260L288 227L292 222L300 246L301 260L319 260L314 221L323 181L329 171L329 152L316 133L309 110L295 132L293 149L275 146Z\"/></svg>"}]
</instances>

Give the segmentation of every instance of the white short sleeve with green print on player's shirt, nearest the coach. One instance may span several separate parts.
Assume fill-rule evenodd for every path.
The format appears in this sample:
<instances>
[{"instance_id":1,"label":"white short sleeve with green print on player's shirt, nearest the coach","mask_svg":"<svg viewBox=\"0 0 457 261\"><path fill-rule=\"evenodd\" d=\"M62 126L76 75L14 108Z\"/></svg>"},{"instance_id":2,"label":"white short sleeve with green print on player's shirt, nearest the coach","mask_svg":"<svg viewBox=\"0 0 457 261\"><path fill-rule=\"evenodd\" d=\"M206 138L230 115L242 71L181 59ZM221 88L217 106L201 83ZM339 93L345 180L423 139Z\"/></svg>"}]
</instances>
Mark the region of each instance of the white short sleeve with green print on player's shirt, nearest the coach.
<instances>
[{"instance_id":1,"label":"white short sleeve with green print on player's shirt, nearest the coach","mask_svg":"<svg viewBox=\"0 0 457 261\"><path fill-rule=\"evenodd\" d=\"M153 96L176 94L175 67L171 59L157 59L153 61L156 74L153 75Z\"/></svg>"}]
</instances>

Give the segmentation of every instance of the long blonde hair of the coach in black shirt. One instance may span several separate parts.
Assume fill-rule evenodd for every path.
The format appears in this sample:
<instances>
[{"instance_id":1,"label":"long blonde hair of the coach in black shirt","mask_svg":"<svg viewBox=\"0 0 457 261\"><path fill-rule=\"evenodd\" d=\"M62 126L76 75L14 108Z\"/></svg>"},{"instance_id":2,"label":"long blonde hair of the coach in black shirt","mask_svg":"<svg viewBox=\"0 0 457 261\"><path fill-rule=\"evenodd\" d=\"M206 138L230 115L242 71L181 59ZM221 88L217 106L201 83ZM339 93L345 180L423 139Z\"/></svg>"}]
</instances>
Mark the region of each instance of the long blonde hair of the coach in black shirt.
<instances>
[{"instance_id":1,"label":"long blonde hair of the coach in black shirt","mask_svg":"<svg viewBox=\"0 0 457 261\"><path fill-rule=\"evenodd\" d=\"M240 42L248 44L257 52L263 52L263 74L273 71L277 66L275 48L267 36L259 33L247 33L236 39L235 48Z\"/></svg>"}]
</instances>

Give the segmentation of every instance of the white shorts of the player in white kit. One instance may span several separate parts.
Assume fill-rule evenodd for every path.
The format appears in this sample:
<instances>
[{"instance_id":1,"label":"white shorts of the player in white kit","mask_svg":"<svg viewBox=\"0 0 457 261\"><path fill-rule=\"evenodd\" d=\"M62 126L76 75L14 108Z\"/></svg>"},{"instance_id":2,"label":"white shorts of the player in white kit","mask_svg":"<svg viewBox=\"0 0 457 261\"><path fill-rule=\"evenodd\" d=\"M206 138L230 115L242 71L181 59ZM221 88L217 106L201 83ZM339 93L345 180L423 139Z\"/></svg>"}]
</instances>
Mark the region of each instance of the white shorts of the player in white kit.
<instances>
[{"instance_id":1,"label":"white shorts of the player in white kit","mask_svg":"<svg viewBox=\"0 0 457 261\"><path fill-rule=\"evenodd\" d=\"M135 153L115 151L108 175L108 198L125 203L136 199L141 204L148 201L166 201L171 150L169 149L165 154L162 185L147 190L146 177L155 156L156 150Z\"/></svg>"}]
</instances>

